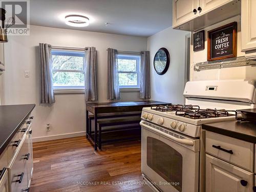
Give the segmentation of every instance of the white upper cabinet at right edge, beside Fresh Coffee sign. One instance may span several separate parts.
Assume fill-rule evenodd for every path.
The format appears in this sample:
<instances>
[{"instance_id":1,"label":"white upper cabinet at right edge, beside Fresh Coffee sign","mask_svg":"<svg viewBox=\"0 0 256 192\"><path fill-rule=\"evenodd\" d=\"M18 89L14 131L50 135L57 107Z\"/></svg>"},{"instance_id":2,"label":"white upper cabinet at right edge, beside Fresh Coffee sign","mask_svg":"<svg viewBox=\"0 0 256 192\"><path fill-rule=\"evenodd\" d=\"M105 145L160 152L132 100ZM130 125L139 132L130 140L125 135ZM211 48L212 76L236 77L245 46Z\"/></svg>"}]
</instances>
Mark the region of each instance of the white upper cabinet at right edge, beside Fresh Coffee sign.
<instances>
[{"instance_id":1,"label":"white upper cabinet at right edge, beside Fresh Coffee sign","mask_svg":"<svg viewBox=\"0 0 256 192\"><path fill-rule=\"evenodd\" d=\"M256 51L256 1L242 1L242 51ZM252 54L253 55L253 54ZM254 59L256 53L254 53Z\"/></svg>"}]
</instances>

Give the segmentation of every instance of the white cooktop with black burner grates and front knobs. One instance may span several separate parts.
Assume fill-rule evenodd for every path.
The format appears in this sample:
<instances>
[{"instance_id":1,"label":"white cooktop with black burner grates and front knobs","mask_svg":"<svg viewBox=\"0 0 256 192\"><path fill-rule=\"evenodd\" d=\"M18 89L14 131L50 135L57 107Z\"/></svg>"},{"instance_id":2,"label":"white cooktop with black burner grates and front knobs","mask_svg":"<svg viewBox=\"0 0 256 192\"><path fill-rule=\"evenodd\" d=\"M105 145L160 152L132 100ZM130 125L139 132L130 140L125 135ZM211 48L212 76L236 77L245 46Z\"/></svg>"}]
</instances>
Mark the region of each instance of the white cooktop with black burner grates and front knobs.
<instances>
[{"instance_id":1,"label":"white cooktop with black burner grates and front knobs","mask_svg":"<svg viewBox=\"0 0 256 192\"><path fill-rule=\"evenodd\" d=\"M191 137L200 137L201 125L236 119L235 111L200 109L199 105L169 104L143 108L141 119Z\"/></svg>"}]
</instances>

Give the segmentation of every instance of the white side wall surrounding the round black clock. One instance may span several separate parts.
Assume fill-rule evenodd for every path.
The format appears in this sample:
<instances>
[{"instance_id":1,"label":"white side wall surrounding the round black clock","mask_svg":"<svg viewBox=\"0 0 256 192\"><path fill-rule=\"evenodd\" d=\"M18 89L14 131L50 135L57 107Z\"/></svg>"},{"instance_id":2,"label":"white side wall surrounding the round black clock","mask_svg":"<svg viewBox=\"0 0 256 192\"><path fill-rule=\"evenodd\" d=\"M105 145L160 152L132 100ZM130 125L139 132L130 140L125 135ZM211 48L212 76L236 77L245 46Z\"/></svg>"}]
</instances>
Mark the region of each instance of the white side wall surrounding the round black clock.
<instances>
[{"instance_id":1,"label":"white side wall surrounding the round black clock","mask_svg":"<svg viewBox=\"0 0 256 192\"><path fill-rule=\"evenodd\" d=\"M147 39L151 56L151 96L153 100L184 103L185 35L189 32L169 27ZM166 48L170 54L170 66L164 75L154 69L154 56L158 49Z\"/></svg>"}]
</instances>

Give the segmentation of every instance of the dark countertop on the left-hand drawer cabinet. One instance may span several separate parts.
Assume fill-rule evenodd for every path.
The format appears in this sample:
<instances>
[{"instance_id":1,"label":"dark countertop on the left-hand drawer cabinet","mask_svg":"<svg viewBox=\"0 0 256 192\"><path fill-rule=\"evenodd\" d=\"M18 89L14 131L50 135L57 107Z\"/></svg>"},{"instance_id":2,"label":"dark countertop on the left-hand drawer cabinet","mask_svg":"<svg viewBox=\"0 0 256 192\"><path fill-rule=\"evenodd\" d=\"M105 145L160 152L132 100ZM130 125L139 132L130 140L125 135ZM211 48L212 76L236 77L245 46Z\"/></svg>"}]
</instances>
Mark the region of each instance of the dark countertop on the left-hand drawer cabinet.
<instances>
[{"instance_id":1,"label":"dark countertop on the left-hand drawer cabinet","mask_svg":"<svg viewBox=\"0 0 256 192\"><path fill-rule=\"evenodd\" d=\"M35 104L0 105L0 155L34 108Z\"/></svg>"}]
</instances>

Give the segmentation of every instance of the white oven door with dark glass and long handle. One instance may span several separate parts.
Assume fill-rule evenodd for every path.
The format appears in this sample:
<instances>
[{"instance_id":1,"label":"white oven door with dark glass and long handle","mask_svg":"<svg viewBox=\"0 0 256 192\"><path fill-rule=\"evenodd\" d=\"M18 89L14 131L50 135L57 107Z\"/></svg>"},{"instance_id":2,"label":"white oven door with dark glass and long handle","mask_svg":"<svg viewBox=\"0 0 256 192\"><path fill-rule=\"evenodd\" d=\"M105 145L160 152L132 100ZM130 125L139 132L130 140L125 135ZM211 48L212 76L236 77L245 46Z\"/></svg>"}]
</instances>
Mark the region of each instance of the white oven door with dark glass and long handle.
<instances>
[{"instance_id":1,"label":"white oven door with dark glass and long handle","mask_svg":"<svg viewBox=\"0 0 256 192\"><path fill-rule=\"evenodd\" d=\"M200 139L141 121L142 173L162 191L198 192Z\"/></svg>"}]
</instances>

